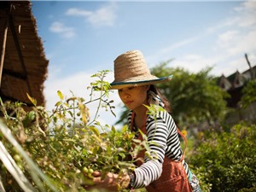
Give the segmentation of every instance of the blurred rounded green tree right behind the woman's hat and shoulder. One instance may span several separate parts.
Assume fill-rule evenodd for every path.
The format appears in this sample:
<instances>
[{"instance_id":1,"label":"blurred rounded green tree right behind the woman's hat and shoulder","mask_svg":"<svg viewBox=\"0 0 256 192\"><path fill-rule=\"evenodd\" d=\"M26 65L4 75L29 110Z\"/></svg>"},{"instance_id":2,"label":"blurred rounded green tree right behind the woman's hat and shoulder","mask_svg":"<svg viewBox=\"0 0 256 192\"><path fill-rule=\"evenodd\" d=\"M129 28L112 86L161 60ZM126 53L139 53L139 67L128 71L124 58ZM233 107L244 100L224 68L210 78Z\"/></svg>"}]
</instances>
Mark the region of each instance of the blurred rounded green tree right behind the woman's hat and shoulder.
<instances>
[{"instance_id":1,"label":"blurred rounded green tree right behind the woman's hat and shoulder","mask_svg":"<svg viewBox=\"0 0 256 192\"><path fill-rule=\"evenodd\" d=\"M183 68L167 67L168 61L152 68L157 77L172 74L173 79L159 84L172 105L172 117L179 125L191 125L207 121L220 121L226 112L225 96L227 92L218 87L216 80L207 67L199 73L189 73Z\"/></svg>"}]
</instances>

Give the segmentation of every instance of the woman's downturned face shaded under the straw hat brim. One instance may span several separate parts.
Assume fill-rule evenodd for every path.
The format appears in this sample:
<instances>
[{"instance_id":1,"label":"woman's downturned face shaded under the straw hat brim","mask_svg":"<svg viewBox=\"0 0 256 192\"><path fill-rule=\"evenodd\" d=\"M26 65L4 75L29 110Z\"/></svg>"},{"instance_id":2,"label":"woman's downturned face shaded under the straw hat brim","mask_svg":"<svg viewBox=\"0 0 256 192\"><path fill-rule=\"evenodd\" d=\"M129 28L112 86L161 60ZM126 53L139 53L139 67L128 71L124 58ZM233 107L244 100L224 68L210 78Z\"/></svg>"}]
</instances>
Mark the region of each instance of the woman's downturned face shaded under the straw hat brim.
<instances>
[{"instance_id":1,"label":"woman's downturned face shaded under the straw hat brim","mask_svg":"<svg viewBox=\"0 0 256 192\"><path fill-rule=\"evenodd\" d=\"M139 87L125 87L119 89L119 97L124 102L126 108L136 109L143 104L147 104L147 91L149 85Z\"/></svg>"}]
</instances>

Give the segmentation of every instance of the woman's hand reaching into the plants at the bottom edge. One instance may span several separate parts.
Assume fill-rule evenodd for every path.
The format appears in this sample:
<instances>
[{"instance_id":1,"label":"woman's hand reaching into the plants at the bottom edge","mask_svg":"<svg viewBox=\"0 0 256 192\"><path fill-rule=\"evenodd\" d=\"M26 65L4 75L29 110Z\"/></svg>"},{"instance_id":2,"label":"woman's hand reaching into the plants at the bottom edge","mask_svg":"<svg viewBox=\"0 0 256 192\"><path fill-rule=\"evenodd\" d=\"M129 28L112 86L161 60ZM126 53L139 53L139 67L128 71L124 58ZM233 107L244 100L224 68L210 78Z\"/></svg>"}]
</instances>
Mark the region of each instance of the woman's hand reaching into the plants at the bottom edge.
<instances>
[{"instance_id":1,"label":"woman's hand reaching into the plants at the bottom edge","mask_svg":"<svg viewBox=\"0 0 256 192\"><path fill-rule=\"evenodd\" d=\"M130 177L127 174L119 176L118 174L108 172L108 174L102 178L102 172L93 172L92 176L94 184L91 186L85 186L84 189L106 189L107 191L120 191L121 189L127 188L130 183Z\"/></svg>"}]
</instances>

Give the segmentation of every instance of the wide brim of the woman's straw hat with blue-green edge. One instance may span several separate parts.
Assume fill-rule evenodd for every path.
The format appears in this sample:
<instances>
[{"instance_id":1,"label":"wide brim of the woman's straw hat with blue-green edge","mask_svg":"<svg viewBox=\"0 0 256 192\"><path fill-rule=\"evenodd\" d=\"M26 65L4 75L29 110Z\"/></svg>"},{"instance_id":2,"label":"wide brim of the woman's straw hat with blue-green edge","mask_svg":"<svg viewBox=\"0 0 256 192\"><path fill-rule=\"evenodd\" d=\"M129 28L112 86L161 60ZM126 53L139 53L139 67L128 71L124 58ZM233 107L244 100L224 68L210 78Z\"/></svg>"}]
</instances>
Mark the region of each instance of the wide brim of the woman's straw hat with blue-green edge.
<instances>
[{"instance_id":1,"label":"wide brim of the woman's straw hat with blue-green edge","mask_svg":"<svg viewBox=\"0 0 256 192\"><path fill-rule=\"evenodd\" d=\"M159 84L165 83L172 79L172 75L163 78L149 79L149 80L140 80L140 81L124 81L124 82L114 82L110 84L109 90L119 90L125 87L137 87L147 84Z\"/></svg>"}]
</instances>

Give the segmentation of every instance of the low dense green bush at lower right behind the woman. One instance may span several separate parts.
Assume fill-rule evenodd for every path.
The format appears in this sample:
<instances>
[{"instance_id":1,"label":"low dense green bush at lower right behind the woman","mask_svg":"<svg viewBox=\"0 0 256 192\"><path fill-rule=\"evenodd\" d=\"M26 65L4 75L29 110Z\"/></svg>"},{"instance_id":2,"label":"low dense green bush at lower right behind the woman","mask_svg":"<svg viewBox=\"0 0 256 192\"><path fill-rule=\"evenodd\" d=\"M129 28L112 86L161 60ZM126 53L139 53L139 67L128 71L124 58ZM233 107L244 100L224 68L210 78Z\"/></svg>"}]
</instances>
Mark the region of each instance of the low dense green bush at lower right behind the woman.
<instances>
[{"instance_id":1,"label":"low dense green bush at lower right behind the woman","mask_svg":"<svg viewBox=\"0 0 256 192\"><path fill-rule=\"evenodd\" d=\"M203 183L212 185L211 191L255 189L255 137L256 125L235 125L230 132L206 131L189 164L201 173Z\"/></svg>"}]
</instances>

